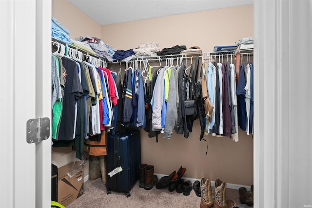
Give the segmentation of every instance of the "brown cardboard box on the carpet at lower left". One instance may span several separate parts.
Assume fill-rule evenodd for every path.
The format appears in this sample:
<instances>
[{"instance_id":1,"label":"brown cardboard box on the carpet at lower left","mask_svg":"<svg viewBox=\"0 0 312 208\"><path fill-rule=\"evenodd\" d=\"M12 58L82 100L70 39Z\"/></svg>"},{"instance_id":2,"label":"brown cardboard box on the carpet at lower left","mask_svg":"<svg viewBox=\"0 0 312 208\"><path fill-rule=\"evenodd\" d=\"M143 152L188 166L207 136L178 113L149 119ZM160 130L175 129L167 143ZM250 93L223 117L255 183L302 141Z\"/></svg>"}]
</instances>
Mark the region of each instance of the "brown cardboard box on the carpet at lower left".
<instances>
[{"instance_id":1,"label":"brown cardboard box on the carpet at lower left","mask_svg":"<svg viewBox=\"0 0 312 208\"><path fill-rule=\"evenodd\" d=\"M83 194L83 166L79 162L69 163L58 170L58 202L68 206Z\"/></svg>"}]
</instances>

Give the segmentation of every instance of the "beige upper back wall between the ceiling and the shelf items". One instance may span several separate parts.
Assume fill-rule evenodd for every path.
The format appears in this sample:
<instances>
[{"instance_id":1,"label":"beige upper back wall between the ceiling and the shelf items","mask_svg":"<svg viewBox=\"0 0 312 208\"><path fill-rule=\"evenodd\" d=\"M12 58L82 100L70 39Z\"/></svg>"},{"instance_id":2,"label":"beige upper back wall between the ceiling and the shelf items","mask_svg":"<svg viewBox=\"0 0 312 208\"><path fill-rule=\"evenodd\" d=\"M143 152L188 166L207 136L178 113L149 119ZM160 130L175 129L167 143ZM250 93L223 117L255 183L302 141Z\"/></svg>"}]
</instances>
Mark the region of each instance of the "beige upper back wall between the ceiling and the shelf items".
<instances>
[{"instance_id":1,"label":"beige upper back wall between the ceiling and the shelf items","mask_svg":"<svg viewBox=\"0 0 312 208\"><path fill-rule=\"evenodd\" d=\"M161 49L197 45L208 52L216 45L234 45L239 38L253 34L253 5L102 26L102 40L118 50L154 41Z\"/></svg>"}]
</instances>

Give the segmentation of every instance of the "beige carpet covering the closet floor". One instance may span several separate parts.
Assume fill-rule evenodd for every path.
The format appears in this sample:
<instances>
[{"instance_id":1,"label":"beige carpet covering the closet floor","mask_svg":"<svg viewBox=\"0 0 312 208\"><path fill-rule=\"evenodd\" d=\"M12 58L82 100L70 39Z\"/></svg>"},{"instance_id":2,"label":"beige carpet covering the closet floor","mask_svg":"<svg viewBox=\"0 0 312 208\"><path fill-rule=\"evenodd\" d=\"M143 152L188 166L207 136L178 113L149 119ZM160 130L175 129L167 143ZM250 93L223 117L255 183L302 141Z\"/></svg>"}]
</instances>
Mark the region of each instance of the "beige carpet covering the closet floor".
<instances>
[{"instance_id":1,"label":"beige carpet covering the closet floor","mask_svg":"<svg viewBox=\"0 0 312 208\"><path fill-rule=\"evenodd\" d=\"M214 191L214 187L212 187ZM138 187L138 181L130 191L125 193L112 191L106 194L106 187L101 178L84 183L84 193L67 208L199 208L200 197L192 190L189 196L168 189L145 190ZM239 193L236 189L227 189L226 199L232 199L240 205Z\"/></svg>"}]
</instances>

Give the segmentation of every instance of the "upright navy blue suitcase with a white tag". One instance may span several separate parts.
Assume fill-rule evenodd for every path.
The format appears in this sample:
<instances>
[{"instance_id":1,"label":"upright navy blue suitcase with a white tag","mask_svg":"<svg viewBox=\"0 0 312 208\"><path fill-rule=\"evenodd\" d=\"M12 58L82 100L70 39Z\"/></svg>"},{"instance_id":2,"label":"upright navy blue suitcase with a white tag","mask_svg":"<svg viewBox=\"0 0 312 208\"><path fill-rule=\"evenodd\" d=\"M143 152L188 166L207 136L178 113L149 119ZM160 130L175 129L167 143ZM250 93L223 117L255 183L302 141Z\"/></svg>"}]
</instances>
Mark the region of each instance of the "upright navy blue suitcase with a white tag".
<instances>
[{"instance_id":1,"label":"upright navy blue suitcase with a white tag","mask_svg":"<svg viewBox=\"0 0 312 208\"><path fill-rule=\"evenodd\" d=\"M108 135L107 141L107 183L106 193L130 190L139 179L138 165L141 163L141 140L139 130L127 130L126 133ZM118 167L121 167L118 170Z\"/></svg>"}]
</instances>

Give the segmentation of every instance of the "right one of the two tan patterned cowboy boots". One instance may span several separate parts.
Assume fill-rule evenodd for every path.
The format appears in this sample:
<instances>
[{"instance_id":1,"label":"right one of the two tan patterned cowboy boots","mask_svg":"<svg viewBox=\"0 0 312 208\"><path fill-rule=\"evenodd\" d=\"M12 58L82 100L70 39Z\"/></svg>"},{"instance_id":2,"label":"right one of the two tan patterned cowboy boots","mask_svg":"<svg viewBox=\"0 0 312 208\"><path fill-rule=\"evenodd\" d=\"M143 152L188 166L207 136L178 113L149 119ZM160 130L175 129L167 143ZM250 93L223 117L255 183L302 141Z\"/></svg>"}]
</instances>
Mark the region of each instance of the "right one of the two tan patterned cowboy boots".
<instances>
[{"instance_id":1,"label":"right one of the two tan patterned cowboy boots","mask_svg":"<svg viewBox=\"0 0 312 208\"><path fill-rule=\"evenodd\" d=\"M236 203L232 199L225 200L225 193L226 193L226 183L222 182L221 185L215 188L214 208L232 208L236 205Z\"/></svg>"}]
</instances>

